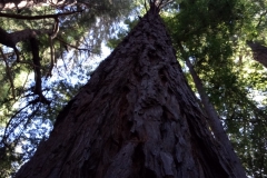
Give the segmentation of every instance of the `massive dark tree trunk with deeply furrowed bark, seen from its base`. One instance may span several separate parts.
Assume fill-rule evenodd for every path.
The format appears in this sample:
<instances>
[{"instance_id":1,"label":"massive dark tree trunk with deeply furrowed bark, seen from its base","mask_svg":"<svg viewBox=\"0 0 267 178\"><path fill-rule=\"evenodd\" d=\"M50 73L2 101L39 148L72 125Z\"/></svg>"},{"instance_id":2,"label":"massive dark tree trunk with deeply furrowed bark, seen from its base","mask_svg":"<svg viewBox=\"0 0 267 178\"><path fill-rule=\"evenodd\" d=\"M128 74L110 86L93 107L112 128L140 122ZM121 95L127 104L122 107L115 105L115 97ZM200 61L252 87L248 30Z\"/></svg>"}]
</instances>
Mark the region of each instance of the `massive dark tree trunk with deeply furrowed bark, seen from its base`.
<instances>
[{"instance_id":1,"label":"massive dark tree trunk with deeply furrowed bark, seen from its base","mask_svg":"<svg viewBox=\"0 0 267 178\"><path fill-rule=\"evenodd\" d=\"M152 9L58 116L17 178L238 177Z\"/></svg>"}]
</instances>

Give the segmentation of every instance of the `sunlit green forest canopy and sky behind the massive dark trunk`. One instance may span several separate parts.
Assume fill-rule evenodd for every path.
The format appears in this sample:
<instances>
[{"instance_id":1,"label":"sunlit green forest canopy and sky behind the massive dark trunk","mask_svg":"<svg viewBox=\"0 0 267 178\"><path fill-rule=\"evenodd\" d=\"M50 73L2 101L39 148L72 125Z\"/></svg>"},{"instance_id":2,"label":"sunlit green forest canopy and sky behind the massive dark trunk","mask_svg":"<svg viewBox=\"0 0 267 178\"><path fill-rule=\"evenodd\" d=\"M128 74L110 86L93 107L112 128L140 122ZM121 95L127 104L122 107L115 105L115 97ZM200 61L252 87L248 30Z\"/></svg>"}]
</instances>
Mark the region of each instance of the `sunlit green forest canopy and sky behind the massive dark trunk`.
<instances>
[{"instance_id":1,"label":"sunlit green forest canopy and sky behind the massive dark trunk","mask_svg":"<svg viewBox=\"0 0 267 178\"><path fill-rule=\"evenodd\" d=\"M34 154L90 79L101 46L115 49L148 8L144 0L26 2L0 2L0 177ZM259 178L267 176L266 6L174 0L160 12L199 103L205 92L247 175Z\"/></svg>"}]
</instances>

